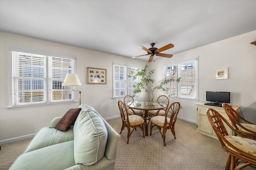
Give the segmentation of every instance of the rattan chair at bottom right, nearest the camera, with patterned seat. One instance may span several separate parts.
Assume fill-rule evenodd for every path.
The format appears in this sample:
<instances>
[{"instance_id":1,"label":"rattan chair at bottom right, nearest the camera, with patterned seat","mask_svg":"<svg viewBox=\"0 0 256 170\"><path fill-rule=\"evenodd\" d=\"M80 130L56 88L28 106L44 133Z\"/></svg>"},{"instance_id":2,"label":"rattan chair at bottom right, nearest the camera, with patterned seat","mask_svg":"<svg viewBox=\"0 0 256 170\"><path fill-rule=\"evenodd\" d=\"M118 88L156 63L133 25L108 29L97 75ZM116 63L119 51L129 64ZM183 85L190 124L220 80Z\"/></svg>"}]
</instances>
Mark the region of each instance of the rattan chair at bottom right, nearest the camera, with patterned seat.
<instances>
[{"instance_id":1,"label":"rattan chair at bottom right, nearest the camera, with patterned seat","mask_svg":"<svg viewBox=\"0 0 256 170\"><path fill-rule=\"evenodd\" d=\"M236 131L236 129L218 111L208 108L206 114L220 141L220 146L229 154L224 170L240 170L246 166L256 168L256 141L229 136L222 121L232 130Z\"/></svg>"}]
</instances>

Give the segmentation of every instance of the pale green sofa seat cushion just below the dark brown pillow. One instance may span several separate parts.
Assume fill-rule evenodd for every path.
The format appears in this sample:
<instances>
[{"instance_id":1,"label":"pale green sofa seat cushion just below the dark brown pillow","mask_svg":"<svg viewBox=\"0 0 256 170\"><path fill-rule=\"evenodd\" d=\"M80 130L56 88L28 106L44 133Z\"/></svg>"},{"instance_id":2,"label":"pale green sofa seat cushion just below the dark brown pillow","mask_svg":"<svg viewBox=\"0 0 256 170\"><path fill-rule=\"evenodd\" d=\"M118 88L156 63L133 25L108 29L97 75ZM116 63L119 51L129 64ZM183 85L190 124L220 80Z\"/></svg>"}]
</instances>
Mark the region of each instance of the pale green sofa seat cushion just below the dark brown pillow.
<instances>
[{"instance_id":1,"label":"pale green sofa seat cushion just below the dark brown pillow","mask_svg":"<svg viewBox=\"0 0 256 170\"><path fill-rule=\"evenodd\" d=\"M73 126L65 132L55 128L43 127L32 139L24 153L71 140L74 140Z\"/></svg>"}]
</instances>

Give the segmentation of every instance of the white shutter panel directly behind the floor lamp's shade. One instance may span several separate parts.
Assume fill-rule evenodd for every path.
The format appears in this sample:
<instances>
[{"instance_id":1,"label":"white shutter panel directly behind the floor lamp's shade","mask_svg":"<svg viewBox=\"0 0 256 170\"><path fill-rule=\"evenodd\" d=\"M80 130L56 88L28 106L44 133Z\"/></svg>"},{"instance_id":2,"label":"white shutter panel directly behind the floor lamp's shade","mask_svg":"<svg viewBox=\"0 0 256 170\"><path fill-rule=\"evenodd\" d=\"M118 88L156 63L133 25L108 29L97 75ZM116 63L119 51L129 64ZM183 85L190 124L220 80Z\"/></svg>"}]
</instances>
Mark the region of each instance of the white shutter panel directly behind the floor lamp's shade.
<instances>
[{"instance_id":1,"label":"white shutter panel directly behind the floor lamp's shade","mask_svg":"<svg viewBox=\"0 0 256 170\"><path fill-rule=\"evenodd\" d=\"M71 86L62 86L66 74L74 73L74 60L49 57L49 102L74 101Z\"/></svg>"}]
</instances>

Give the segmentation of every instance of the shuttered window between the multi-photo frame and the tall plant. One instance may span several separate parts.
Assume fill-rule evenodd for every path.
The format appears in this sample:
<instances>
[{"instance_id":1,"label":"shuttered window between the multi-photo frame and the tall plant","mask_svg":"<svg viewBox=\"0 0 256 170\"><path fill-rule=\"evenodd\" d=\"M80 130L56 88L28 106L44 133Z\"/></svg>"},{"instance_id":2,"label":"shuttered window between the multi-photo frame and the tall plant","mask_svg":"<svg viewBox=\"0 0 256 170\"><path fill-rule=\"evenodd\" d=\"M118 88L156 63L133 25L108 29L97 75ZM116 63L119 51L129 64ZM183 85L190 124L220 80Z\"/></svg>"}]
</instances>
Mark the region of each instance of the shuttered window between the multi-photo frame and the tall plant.
<instances>
[{"instance_id":1,"label":"shuttered window between the multi-photo frame and the tall plant","mask_svg":"<svg viewBox=\"0 0 256 170\"><path fill-rule=\"evenodd\" d=\"M131 71L136 72L137 69L137 66L113 63L113 98L133 95L133 85L138 82L138 80L128 78L127 75L129 75Z\"/></svg>"}]
</instances>

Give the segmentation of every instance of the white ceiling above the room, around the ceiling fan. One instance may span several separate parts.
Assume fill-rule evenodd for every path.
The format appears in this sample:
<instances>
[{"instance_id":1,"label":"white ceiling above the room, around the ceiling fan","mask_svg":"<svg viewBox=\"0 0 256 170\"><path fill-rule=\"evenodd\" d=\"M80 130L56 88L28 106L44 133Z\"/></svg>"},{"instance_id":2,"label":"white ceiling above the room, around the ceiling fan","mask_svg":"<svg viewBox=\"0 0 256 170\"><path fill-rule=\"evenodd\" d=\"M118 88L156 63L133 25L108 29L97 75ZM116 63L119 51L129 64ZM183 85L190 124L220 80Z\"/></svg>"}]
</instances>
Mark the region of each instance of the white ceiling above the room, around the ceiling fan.
<instances>
[{"instance_id":1,"label":"white ceiling above the room, around the ceiling fan","mask_svg":"<svg viewBox=\"0 0 256 170\"><path fill-rule=\"evenodd\" d=\"M175 57L254 30L256 0L0 0L0 31L124 57L150 43L174 44L162 53Z\"/></svg>"}]
</instances>

